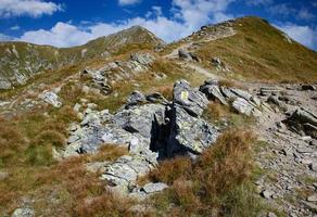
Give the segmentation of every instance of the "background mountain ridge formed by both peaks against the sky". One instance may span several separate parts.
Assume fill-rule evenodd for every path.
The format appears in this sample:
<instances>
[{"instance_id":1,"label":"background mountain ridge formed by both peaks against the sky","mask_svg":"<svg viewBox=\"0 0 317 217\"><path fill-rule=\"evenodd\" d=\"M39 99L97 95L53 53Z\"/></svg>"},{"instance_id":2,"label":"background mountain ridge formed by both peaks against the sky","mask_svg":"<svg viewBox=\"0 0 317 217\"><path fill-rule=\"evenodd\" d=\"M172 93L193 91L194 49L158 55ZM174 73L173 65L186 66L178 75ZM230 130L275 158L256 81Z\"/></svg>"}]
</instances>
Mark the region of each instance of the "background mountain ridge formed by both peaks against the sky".
<instances>
[{"instance_id":1,"label":"background mountain ridge formed by both peaks against the sky","mask_svg":"<svg viewBox=\"0 0 317 217\"><path fill-rule=\"evenodd\" d=\"M225 37L224 37L225 36ZM132 26L116 34L99 37L83 46L55 48L27 42L0 43L0 89L25 85L35 75L79 61L128 53L132 50L154 50L168 54L183 44L201 59L201 65L215 71L213 61L231 72L226 76L279 81L317 80L317 53L271 26L267 21L245 16L216 25L203 26L191 36L166 44L153 33ZM215 60L213 60L215 59ZM217 62L217 61L216 61ZM219 67L219 66L216 66ZM224 73L216 68L217 73Z\"/></svg>"}]
</instances>

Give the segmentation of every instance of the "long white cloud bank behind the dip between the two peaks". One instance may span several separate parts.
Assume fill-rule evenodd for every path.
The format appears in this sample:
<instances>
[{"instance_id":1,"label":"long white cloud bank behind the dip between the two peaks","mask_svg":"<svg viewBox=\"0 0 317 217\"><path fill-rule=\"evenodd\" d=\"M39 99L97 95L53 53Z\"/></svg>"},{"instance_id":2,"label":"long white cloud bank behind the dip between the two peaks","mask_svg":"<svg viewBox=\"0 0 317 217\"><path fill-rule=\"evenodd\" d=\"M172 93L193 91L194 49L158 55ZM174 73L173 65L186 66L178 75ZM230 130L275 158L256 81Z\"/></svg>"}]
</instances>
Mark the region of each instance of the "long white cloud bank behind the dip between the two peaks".
<instances>
[{"instance_id":1,"label":"long white cloud bank behind the dip between the two peaks","mask_svg":"<svg viewBox=\"0 0 317 217\"><path fill-rule=\"evenodd\" d=\"M232 18L233 16L227 14L226 10L233 1L173 0L170 12L174 16L170 18L163 15L160 7L152 7L144 17L137 16L117 23L85 22L78 26L59 22L51 29L26 31L20 40L55 47L72 47L134 25L140 25L170 42L192 34L202 25Z\"/></svg>"}]
</instances>

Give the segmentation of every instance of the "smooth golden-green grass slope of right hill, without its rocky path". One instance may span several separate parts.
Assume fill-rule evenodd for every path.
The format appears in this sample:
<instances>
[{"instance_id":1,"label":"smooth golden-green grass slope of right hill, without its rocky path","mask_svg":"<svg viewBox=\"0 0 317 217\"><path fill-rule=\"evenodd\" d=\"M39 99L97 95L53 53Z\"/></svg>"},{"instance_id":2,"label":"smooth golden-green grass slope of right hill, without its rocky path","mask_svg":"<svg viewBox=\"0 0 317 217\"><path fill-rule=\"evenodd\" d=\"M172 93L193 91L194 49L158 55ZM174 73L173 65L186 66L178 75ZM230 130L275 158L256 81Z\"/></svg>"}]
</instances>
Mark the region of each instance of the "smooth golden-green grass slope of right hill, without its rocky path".
<instances>
[{"instance_id":1,"label":"smooth golden-green grass slope of right hill, without its rocky path","mask_svg":"<svg viewBox=\"0 0 317 217\"><path fill-rule=\"evenodd\" d=\"M233 22L237 35L207 42L198 51L205 65L218 56L234 76L253 80L317 81L317 53L293 41L264 20L243 17Z\"/></svg>"}]
</instances>

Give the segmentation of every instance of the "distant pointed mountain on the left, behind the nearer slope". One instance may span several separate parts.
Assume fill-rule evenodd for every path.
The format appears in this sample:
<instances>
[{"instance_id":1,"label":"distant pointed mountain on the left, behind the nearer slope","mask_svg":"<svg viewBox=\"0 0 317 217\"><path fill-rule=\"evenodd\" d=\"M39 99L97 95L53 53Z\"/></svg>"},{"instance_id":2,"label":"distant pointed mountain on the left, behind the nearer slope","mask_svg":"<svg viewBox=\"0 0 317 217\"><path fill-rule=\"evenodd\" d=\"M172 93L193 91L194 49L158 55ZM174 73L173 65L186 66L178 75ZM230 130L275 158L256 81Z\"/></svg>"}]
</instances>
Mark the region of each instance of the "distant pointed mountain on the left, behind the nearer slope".
<instances>
[{"instance_id":1,"label":"distant pointed mountain on the left, behind the nearer slope","mask_svg":"<svg viewBox=\"0 0 317 217\"><path fill-rule=\"evenodd\" d=\"M74 48L54 48L25 42L0 43L0 89L25 85L39 73L52 73L90 59L106 59L124 50L153 49L165 42L149 30L134 26Z\"/></svg>"}]
</instances>

